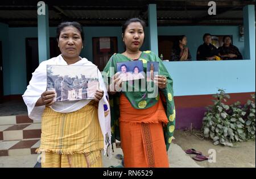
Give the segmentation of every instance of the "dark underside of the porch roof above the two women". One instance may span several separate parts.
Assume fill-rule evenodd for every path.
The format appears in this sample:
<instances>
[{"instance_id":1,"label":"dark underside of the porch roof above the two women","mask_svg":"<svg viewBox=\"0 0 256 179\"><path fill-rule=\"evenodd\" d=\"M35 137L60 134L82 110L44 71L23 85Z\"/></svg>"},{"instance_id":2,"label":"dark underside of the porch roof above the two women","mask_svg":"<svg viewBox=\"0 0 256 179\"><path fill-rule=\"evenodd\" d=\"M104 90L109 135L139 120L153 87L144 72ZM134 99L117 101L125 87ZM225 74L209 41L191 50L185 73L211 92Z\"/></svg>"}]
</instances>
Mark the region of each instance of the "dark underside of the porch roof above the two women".
<instances>
[{"instance_id":1,"label":"dark underside of the porch roof above the two women","mask_svg":"<svg viewBox=\"0 0 256 179\"><path fill-rule=\"evenodd\" d=\"M147 3L143 0L130 0L124 3L121 1L114 3L110 0L106 3L96 1L85 3L84 1L77 2L77 0L72 0L72 2L74 2L73 5L71 2L60 5L60 2L55 0L48 2L50 26L56 26L61 20L84 22L88 26L97 24L120 26L125 19L139 16L147 21L148 18ZM159 0L157 2L159 2L157 5L158 23L167 26L170 24L193 25L193 23L242 24L242 7L253 3L253 1L238 0L217 1L217 15L209 16L209 7L204 1ZM9 5L0 6L0 22L7 23L9 26L30 26L37 23L36 3L35 5L33 3L34 6L26 1L12 0L5 1L5 3Z\"/></svg>"}]
</instances>

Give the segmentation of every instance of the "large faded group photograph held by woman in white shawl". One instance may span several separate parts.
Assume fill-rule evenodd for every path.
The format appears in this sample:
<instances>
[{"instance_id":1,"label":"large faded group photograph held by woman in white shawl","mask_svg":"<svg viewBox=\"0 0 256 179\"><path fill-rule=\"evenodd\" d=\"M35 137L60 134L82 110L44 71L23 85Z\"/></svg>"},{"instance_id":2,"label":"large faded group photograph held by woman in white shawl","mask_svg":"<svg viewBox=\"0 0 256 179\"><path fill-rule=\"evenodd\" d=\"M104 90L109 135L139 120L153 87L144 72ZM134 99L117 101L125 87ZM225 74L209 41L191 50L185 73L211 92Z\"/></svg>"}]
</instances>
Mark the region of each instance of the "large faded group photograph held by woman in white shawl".
<instances>
[{"instance_id":1,"label":"large faded group photograph held by woman in white shawl","mask_svg":"<svg viewBox=\"0 0 256 179\"><path fill-rule=\"evenodd\" d=\"M47 90L56 102L93 99L98 85L97 66L47 65Z\"/></svg>"}]
</instances>

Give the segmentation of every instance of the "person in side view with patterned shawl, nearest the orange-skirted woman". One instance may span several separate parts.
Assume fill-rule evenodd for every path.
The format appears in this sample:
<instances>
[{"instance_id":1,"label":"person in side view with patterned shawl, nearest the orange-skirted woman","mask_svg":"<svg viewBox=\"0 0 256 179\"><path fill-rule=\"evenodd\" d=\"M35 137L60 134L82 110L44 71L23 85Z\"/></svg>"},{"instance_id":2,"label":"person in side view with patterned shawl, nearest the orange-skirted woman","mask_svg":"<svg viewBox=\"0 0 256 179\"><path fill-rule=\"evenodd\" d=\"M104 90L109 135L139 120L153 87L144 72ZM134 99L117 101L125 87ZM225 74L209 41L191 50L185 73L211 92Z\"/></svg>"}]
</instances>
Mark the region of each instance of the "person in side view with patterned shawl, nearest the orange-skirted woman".
<instances>
[{"instance_id":1,"label":"person in side view with patterned shawl, nearest the orange-skirted woman","mask_svg":"<svg viewBox=\"0 0 256 179\"><path fill-rule=\"evenodd\" d=\"M171 52L171 61L188 61L191 60L191 55L189 52L187 45L187 37L185 35L181 35Z\"/></svg>"}]
</instances>

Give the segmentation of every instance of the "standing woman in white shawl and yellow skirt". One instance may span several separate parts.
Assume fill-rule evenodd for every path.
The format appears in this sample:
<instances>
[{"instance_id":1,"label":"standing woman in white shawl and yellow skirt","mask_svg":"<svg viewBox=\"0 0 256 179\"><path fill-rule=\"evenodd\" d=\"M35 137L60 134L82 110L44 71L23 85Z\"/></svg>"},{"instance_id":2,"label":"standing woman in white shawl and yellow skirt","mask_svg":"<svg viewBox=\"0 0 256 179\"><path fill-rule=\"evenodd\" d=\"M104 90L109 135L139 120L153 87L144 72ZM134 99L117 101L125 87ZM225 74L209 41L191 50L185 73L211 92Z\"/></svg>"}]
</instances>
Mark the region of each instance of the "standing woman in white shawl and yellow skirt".
<instances>
[{"instance_id":1,"label":"standing woman in white shawl and yellow skirt","mask_svg":"<svg viewBox=\"0 0 256 179\"><path fill-rule=\"evenodd\" d=\"M98 70L99 90L94 100L55 102L55 91L46 91L47 65L94 65L81 58L84 33L77 22L57 27L61 55L43 61L32 74L23 94L28 116L42 120L38 153L42 167L102 167L101 150L110 151L108 93Z\"/></svg>"}]
</instances>

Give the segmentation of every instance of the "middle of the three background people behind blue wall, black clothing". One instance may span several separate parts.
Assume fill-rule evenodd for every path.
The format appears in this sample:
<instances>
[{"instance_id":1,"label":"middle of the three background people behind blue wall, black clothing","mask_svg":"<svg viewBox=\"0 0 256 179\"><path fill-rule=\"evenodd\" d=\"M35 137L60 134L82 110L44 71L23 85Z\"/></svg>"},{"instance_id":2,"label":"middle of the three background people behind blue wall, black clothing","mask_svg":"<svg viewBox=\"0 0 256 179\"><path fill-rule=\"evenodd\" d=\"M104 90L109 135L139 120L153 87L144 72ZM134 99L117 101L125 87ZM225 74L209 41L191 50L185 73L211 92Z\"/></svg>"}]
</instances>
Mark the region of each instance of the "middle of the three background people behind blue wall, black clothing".
<instances>
[{"instance_id":1,"label":"middle of the three background people behind blue wall, black clothing","mask_svg":"<svg viewBox=\"0 0 256 179\"><path fill-rule=\"evenodd\" d=\"M218 49L212 44L212 35L204 34L204 44L197 48L196 60L218 60L220 59Z\"/></svg>"}]
</instances>

